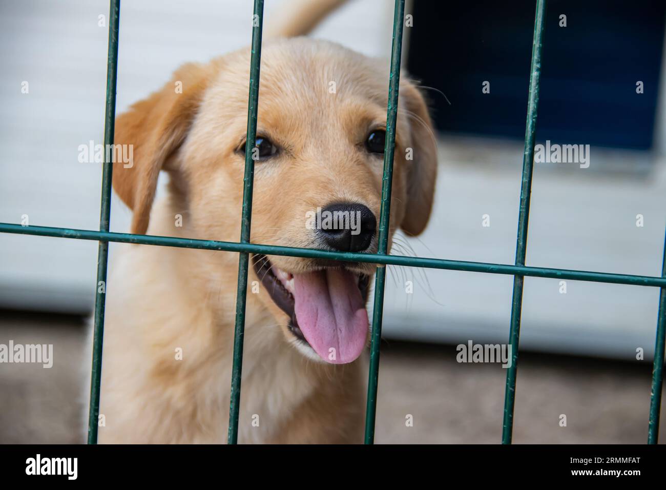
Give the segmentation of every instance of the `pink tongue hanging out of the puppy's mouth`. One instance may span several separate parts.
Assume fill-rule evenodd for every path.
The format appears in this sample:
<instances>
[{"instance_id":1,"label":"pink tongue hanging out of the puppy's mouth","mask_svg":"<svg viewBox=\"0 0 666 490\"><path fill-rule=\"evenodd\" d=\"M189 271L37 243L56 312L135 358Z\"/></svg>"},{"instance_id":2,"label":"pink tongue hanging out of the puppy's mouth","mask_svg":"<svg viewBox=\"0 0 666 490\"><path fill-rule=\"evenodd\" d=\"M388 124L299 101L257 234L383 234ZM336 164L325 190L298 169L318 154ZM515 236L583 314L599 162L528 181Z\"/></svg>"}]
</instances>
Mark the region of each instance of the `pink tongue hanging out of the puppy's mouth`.
<instances>
[{"instance_id":1,"label":"pink tongue hanging out of the puppy's mouth","mask_svg":"<svg viewBox=\"0 0 666 490\"><path fill-rule=\"evenodd\" d=\"M294 275L296 321L324 361L344 364L361 355L368 312L356 276L344 269Z\"/></svg>"}]
</instances>

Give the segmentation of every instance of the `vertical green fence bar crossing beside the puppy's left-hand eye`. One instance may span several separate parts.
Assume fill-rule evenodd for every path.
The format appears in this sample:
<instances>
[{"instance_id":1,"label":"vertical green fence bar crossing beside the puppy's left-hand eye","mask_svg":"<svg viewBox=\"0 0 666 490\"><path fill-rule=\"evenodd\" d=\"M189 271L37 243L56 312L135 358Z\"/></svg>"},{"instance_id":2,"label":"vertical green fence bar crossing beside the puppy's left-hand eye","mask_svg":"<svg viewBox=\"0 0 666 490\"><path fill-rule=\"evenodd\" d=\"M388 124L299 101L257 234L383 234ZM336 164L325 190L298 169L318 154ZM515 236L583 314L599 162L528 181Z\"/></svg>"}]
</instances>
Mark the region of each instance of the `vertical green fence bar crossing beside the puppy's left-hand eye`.
<instances>
[{"instance_id":1,"label":"vertical green fence bar crossing beside the puppy's left-hand eye","mask_svg":"<svg viewBox=\"0 0 666 490\"><path fill-rule=\"evenodd\" d=\"M252 149L256 143L256 114L259 99L259 69L261 65L261 32L264 23L264 0L254 0L252 15L252 56L250 58L250 95L248 96L248 128L245 143L245 176L243 178L243 207L240 223L240 243L249 243L252 222L252 186L254 160ZM236 289L236 327L234 330L234 365L231 373L231 401L229 404L229 431L227 443L238 442L238 414L240 413L240 375L243 363L243 336L245 330L245 302L247 297L249 254L238 257L238 289Z\"/></svg>"}]
</instances>

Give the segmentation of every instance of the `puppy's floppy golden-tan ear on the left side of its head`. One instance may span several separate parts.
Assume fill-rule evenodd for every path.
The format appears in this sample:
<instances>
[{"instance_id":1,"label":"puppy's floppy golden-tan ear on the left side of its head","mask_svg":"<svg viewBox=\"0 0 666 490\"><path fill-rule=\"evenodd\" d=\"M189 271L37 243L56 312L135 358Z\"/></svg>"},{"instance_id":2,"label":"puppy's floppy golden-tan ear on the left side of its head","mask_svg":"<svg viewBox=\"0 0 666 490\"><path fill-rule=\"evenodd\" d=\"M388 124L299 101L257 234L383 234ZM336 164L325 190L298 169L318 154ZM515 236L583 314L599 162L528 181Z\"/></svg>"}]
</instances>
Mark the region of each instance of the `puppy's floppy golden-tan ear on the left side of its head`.
<instances>
[{"instance_id":1,"label":"puppy's floppy golden-tan ear on the left side of its head","mask_svg":"<svg viewBox=\"0 0 666 490\"><path fill-rule=\"evenodd\" d=\"M188 63L171 81L116 118L116 145L132 145L131 165L113 166L113 188L133 211L131 233L146 233L165 163L184 141L210 78L210 67Z\"/></svg>"}]
</instances>

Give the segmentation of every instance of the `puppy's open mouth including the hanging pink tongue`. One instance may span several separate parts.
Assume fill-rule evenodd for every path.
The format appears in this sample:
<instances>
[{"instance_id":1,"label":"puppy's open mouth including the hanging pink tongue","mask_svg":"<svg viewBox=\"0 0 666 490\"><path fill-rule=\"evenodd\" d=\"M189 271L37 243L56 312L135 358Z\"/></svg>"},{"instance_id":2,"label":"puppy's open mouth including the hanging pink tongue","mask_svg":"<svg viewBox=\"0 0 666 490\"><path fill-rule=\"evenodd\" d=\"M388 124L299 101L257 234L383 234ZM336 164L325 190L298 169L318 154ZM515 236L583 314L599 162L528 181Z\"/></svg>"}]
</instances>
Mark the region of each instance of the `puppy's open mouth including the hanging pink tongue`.
<instances>
[{"instance_id":1,"label":"puppy's open mouth including the hanging pink tongue","mask_svg":"<svg viewBox=\"0 0 666 490\"><path fill-rule=\"evenodd\" d=\"M368 337L369 275L340 262L291 274L270 263L266 255L252 255L252 265L273 302L289 316L289 330L296 339L328 363L358 358Z\"/></svg>"}]
</instances>

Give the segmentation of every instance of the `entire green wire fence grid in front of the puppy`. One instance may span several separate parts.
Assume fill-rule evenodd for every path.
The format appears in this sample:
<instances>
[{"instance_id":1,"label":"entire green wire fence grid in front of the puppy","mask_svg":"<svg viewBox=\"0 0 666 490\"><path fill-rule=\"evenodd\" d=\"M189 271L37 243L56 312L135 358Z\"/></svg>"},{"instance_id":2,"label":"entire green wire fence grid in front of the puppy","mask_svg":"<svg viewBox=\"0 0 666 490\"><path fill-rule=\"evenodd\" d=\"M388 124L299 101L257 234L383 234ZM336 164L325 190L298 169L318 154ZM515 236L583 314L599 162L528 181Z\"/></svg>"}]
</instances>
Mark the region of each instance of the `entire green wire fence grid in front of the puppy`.
<instances>
[{"instance_id":1,"label":"entire green wire fence grid in front of the puppy","mask_svg":"<svg viewBox=\"0 0 666 490\"><path fill-rule=\"evenodd\" d=\"M365 262L380 265L377 268L374 310L372 317L372 344L370 347L370 371L368 374L368 399L366 406L365 442L374 442L374 426L377 406L377 386L379 373L380 339L382 333L382 313L384 310L384 283L386 265L405 265L429 269L448 269L491 274L513 275L513 298L511 302L511 322L509 343L512 347L512 363L507 370L502 443L511 443L513 431L513 406L515 402L515 383L517 374L518 347L520 337L520 316L523 297L523 279L528 277L549 277L574 281L592 281L599 283L627 284L661 288L659 297L659 315L657 338L652 374L652 389L649 411L648 443L656 444L659 435L659 411L661 408L661 388L663 385L664 347L666 343L666 238L661 277L613 274L603 272L575 271L569 269L551 269L528 267L525 265L527 251L527 221L529 217L529 197L531 193L534 138L539 105L539 75L541 72L541 47L545 27L545 0L536 1L534 36L529 77L529 98L527 103L527 124L525 127L525 151L523 154L522 185L518 215L515 263L495 264L484 262L431 259L424 257L403 257L388 255L388 223L390 216L391 187L393 174L394 141L396 117L398 113L398 93L400 86L400 53L402 52L402 30L404 26L405 0L396 0L390 80L388 89L388 108L386 115L386 146L384 148L384 174L382 177L382 206L380 211L378 253L331 252L296 247L278 247L250 243L250 223L252 218L252 182L254 161L252 152L246 152L244 189L242 201L242 221L240 242L214 240L182 239L176 237L158 237L153 235L133 235L131 233L112 233L109 231L111 216L111 177L112 163L105 161L102 179L102 197L99 231L67 229L58 227L22 226L13 223L0 223L1 233L19 233L99 241L97 259L97 284L95 297L95 323L93 335L93 365L91 381L90 411L88 423L88 443L97 443L99 418L99 397L101 385L102 345L104 333L105 288L100 287L107 280L107 257L109 242L138 243L143 245L161 245L165 247L184 247L236 252L238 259L238 290L236 300L236 325L234 329L234 354L232 366L231 396L229 407L228 443L238 441L238 415L240 413L240 379L242 368L243 335L245 324L246 287L248 279L248 258L250 253L264 255L288 255L332 259L337 261ZM111 0L109 22L109 52L107 58L107 99L105 115L105 145L113 144L115 123L116 75L118 63L120 0ZM254 0L252 27L252 56L250 59L250 93L248 97L247 140L249 147L254 147L256 140L256 117L259 95L259 71L261 63L261 37L264 15L264 0Z\"/></svg>"}]
</instances>

